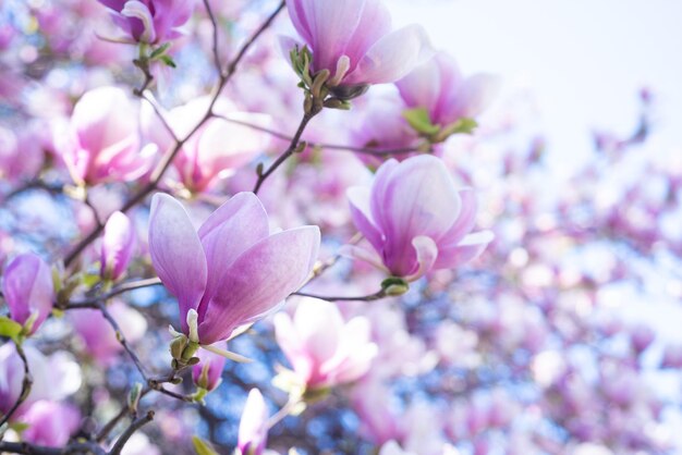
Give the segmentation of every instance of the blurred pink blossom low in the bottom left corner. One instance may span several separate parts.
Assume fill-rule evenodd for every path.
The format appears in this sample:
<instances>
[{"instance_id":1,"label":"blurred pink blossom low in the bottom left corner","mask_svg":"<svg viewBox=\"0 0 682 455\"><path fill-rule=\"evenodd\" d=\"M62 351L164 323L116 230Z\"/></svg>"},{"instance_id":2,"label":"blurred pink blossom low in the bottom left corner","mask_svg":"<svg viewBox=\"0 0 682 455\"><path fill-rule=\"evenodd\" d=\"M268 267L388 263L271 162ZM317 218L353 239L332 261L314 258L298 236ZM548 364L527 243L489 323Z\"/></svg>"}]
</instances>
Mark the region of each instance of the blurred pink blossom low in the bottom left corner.
<instances>
[{"instance_id":1,"label":"blurred pink blossom low in the bottom left corner","mask_svg":"<svg viewBox=\"0 0 682 455\"><path fill-rule=\"evenodd\" d=\"M24 441L60 447L69 442L81 426L81 411L66 403L39 401L22 413L19 420L28 428L22 432Z\"/></svg>"}]
</instances>

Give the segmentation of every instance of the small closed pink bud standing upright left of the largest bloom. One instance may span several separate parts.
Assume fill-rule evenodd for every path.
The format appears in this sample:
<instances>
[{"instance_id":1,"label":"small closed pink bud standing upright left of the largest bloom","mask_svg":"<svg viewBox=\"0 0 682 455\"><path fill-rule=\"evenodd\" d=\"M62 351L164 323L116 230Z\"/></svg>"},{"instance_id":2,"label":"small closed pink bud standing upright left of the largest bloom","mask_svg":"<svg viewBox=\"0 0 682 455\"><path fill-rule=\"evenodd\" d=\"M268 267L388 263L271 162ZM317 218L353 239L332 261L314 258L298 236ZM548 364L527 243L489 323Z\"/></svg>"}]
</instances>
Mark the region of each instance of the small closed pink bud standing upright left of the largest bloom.
<instances>
[{"instance_id":1,"label":"small closed pink bud standing upright left of the largest bloom","mask_svg":"<svg viewBox=\"0 0 682 455\"><path fill-rule=\"evenodd\" d=\"M127 269L135 248L135 226L120 211L113 212L105 225L101 244L101 275L118 280Z\"/></svg>"}]
</instances>

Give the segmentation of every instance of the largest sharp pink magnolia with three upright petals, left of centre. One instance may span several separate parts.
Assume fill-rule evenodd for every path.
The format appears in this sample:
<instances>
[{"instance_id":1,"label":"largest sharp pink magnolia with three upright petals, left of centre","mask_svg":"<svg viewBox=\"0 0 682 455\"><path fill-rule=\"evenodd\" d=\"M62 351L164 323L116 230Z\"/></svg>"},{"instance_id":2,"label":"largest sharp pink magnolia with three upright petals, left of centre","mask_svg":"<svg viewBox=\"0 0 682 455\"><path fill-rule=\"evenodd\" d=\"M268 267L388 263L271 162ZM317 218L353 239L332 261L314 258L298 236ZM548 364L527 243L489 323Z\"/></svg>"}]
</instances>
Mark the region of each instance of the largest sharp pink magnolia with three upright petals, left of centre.
<instances>
[{"instance_id":1,"label":"largest sharp pink magnolia with three upright petals, left of centre","mask_svg":"<svg viewBox=\"0 0 682 455\"><path fill-rule=\"evenodd\" d=\"M182 331L209 348L264 318L310 273L317 226L270 234L253 193L240 193L195 231L172 197L151 200L149 250L161 282L178 297Z\"/></svg>"}]
</instances>

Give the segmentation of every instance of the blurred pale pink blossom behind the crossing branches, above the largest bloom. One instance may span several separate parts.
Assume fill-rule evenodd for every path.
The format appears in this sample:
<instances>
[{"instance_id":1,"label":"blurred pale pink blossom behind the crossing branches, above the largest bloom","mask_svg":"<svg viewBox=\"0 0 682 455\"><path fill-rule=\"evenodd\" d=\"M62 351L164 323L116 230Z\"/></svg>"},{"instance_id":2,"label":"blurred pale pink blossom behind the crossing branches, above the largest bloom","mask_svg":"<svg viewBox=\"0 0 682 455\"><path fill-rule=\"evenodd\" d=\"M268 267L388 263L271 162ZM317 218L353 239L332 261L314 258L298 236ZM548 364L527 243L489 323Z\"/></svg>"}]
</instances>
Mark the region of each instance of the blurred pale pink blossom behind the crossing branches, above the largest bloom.
<instances>
[{"instance_id":1,"label":"blurred pale pink blossom behind the crossing branches, above the largest bloom","mask_svg":"<svg viewBox=\"0 0 682 455\"><path fill-rule=\"evenodd\" d=\"M181 138L187 136L204 116L209 104L210 100L205 97L171 110L167 118L175 136ZM267 115L236 112L236 108L224 99L219 100L212 111L251 124L266 126L269 123ZM173 146L174 140L160 124L155 112L145 110L143 121L146 135L159 149L167 150ZM269 140L267 134L254 128L219 118L210 119L184 143L173 160L173 165L184 187L200 193L208 189L219 177L231 175L261 153Z\"/></svg>"}]
</instances>

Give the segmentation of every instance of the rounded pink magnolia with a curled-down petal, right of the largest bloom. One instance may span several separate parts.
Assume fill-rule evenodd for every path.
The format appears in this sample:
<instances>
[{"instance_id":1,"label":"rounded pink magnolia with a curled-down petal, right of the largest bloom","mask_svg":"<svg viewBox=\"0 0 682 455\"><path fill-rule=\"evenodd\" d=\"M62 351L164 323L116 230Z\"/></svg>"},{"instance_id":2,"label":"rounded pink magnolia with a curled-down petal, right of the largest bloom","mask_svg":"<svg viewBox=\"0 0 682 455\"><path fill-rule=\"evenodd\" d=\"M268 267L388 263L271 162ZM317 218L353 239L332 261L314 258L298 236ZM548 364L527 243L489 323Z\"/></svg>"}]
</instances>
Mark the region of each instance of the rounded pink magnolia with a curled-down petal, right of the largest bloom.
<instances>
[{"instance_id":1,"label":"rounded pink magnolia with a curled-down petal, right of the largest bloom","mask_svg":"<svg viewBox=\"0 0 682 455\"><path fill-rule=\"evenodd\" d=\"M470 234L475 195L458 190L443 162L430 155L387 161L372 188L352 187L348 197L355 226L378 255L351 253L407 281L467 262L492 241L489 231Z\"/></svg>"}]
</instances>

